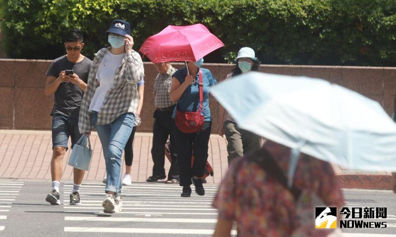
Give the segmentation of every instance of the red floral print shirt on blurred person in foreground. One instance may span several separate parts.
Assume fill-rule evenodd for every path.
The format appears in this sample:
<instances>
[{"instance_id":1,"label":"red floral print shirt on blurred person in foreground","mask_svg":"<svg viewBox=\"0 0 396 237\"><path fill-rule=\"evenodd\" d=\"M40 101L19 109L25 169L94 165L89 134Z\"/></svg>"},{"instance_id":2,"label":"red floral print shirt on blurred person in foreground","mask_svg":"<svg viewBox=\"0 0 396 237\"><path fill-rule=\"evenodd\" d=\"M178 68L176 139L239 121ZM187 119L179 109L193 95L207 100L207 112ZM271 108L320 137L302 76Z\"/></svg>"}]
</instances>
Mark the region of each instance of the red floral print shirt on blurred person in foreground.
<instances>
[{"instance_id":1,"label":"red floral print shirt on blurred person in foreground","mask_svg":"<svg viewBox=\"0 0 396 237\"><path fill-rule=\"evenodd\" d=\"M264 149L287 177L291 150L272 141L267 141ZM301 154L293 185L301 191L312 191L328 206L344 204L340 184L328 162ZM298 228L296 204L292 193L266 175L258 163L237 158L231 163L212 205L218 209L219 218L237 222L240 237L290 237Z\"/></svg>"}]
</instances>

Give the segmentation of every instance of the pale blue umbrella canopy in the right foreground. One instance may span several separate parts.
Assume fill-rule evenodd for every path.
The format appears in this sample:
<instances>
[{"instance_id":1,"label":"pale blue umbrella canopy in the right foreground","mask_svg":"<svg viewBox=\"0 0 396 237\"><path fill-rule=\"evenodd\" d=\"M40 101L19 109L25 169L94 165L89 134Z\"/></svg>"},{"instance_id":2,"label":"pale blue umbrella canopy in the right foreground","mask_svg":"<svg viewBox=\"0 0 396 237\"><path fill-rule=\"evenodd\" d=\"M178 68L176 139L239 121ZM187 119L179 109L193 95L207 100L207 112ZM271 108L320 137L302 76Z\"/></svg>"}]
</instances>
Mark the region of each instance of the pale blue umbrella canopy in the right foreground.
<instances>
[{"instance_id":1,"label":"pale blue umbrella canopy in the right foreground","mask_svg":"<svg viewBox=\"0 0 396 237\"><path fill-rule=\"evenodd\" d=\"M381 105L322 79L251 72L210 88L238 125L307 155L396 171L396 125Z\"/></svg>"}]
</instances>

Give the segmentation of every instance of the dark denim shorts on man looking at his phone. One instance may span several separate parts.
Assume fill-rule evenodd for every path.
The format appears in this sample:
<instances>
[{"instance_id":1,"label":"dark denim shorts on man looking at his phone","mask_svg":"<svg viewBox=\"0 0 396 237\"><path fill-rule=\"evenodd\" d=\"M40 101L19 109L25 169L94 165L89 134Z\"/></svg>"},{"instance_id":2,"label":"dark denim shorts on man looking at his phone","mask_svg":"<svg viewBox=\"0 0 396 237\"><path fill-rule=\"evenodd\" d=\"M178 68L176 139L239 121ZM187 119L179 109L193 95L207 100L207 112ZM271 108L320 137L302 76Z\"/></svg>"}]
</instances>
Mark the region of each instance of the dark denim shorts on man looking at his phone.
<instances>
[{"instance_id":1,"label":"dark denim shorts on man looking at his phone","mask_svg":"<svg viewBox=\"0 0 396 237\"><path fill-rule=\"evenodd\" d=\"M62 114L53 114L52 116L52 149L54 147L65 147L71 137L71 148L80 139L82 134L78 129L78 118L69 118Z\"/></svg>"}]
</instances>

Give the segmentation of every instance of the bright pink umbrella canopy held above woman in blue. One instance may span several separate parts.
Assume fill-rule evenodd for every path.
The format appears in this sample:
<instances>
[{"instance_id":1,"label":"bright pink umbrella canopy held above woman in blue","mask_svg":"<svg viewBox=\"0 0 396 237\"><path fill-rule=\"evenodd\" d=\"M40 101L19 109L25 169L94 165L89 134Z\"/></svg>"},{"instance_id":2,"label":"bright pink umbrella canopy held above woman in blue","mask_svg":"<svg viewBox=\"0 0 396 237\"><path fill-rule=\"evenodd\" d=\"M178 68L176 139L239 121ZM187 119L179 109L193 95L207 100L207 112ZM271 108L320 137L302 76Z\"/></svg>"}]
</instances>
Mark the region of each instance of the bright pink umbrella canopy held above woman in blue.
<instances>
[{"instance_id":1,"label":"bright pink umbrella canopy held above woman in blue","mask_svg":"<svg viewBox=\"0 0 396 237\"><path fill-rule=\"evenodd\" d=\"M197 61L224 43L202 24L167 26L149 37L139 51L153 63L172 61Z\"/></svg>"}]
</instances>

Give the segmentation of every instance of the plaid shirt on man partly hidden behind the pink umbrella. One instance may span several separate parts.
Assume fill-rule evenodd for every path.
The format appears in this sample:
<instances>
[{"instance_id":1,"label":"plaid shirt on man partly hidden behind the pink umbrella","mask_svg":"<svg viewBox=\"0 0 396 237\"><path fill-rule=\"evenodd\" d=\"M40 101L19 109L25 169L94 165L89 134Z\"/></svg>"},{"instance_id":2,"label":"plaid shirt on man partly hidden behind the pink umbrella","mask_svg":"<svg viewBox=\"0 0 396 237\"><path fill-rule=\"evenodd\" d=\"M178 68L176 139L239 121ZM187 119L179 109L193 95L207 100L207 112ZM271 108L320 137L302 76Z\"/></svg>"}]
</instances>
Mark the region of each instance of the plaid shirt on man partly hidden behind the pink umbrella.
<instances>
[{"instance_id":1,"label":"plaid shirt on man partly hidden behind the pink umbrella","mask_svg":"<svg viewBox=\"0 0 396 237\"><path fill-rule=\"evenodd\" d=\"M172 75L176 69L172 66L169 67L165 74L160 74L154 80L154 104L155 108L167 108L176 103L172 102L169 97L170 87L172 85Z\"/></svg>"}]
</instances>

